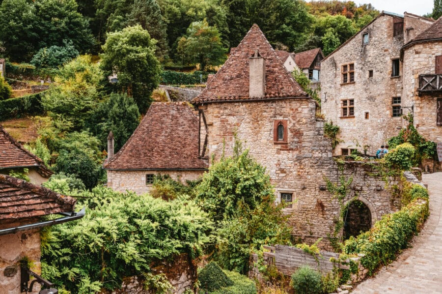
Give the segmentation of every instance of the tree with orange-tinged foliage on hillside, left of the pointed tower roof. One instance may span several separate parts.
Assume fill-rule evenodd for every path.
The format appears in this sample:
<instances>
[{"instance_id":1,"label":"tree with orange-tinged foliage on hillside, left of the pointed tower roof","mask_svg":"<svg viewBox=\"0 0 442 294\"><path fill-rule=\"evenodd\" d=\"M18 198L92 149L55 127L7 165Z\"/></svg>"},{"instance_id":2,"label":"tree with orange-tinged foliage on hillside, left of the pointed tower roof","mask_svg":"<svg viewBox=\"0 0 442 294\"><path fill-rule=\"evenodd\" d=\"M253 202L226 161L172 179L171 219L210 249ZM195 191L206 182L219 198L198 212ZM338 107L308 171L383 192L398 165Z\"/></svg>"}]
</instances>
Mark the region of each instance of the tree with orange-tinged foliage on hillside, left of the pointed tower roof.
<instances>
[{"instance_id":1,"label":"tree with orange-tinged foliage on hillside, left of the pointed tower roof","mask_svg":"<svg viewBox=\"0 0 442 294\"><path fill-rule=\"evenodd\" d=\"M225 49L216 27L211 27L206 20L193 22L187 29L187 37L178 42L178 55L186 63L199 63L200 70L209 66L220 65L225 60Z\"/></svg>"}]
</instances>

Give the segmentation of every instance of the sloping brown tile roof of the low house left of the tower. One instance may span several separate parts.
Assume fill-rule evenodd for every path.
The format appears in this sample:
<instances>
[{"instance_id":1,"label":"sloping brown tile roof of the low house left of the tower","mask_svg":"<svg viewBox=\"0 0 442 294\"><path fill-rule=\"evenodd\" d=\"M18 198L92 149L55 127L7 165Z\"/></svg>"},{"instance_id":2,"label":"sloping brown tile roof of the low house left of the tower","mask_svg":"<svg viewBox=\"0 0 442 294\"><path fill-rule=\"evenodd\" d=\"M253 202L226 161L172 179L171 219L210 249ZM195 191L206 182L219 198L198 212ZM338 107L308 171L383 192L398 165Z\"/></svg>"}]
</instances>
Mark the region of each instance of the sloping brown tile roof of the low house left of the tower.
<instances>
[{"instance_id":1,"label":"sloping brown tile roof of the low house left of the tower","mask_svg":"<svg viewBox=\"0 0 442 294\"><path fill-rule=\"evenodd\" d=\"M104 168L110 170L200 170L199 118L187 102L154 102L126 144Z\"/></svg>"}]
</instances>

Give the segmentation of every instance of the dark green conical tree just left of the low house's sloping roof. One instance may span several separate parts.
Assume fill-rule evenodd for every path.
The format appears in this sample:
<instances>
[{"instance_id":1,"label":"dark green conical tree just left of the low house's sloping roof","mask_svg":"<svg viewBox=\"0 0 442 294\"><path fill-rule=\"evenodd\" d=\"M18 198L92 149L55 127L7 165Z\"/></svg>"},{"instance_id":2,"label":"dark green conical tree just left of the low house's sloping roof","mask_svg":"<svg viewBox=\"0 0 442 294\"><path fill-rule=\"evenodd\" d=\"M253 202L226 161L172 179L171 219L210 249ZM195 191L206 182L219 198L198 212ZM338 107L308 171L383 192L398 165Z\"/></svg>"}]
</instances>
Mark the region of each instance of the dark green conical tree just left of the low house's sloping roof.
<instances>
[{"instance_id":1,"label":"dark green conical tree just left of the low house's sloping roof","mask_svg":"<svg viewBox=\"0 0 442 294\"><path fill-rule=\"evenodd\" d=\"M87 127L101 141L105 149L107 137L112 131L115 138L114 148L117 152L129 139L139 124L137 104L132 97L126 94L112 93L93 113L87 122Z\"/></svg>"}]
</instances>

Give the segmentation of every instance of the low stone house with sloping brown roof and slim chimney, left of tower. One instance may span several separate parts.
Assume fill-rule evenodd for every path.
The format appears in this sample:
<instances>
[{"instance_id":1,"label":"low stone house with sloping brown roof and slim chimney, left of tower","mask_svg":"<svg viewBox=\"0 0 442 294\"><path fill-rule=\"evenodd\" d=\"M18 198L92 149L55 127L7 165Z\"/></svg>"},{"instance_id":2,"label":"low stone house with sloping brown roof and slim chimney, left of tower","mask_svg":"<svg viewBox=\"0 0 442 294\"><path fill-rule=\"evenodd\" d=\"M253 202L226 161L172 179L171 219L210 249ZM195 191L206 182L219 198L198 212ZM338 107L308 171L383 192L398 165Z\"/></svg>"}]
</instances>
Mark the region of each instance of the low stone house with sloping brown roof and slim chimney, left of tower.
<instances>
[{"instance_id":1,"label":"low stone house with sloping brown roof and slim chimney, left of tower","mask_svg":"<svg viewBox=\"0 0 442 294\"><path fill-rule=\"evenodd\" d=\"M146 193L155 175L195 180L208 168L198 157L198 116L187 102L154 102L126 144L113 156L108 138L108 187Z\"/></svg>"}]
</instances>

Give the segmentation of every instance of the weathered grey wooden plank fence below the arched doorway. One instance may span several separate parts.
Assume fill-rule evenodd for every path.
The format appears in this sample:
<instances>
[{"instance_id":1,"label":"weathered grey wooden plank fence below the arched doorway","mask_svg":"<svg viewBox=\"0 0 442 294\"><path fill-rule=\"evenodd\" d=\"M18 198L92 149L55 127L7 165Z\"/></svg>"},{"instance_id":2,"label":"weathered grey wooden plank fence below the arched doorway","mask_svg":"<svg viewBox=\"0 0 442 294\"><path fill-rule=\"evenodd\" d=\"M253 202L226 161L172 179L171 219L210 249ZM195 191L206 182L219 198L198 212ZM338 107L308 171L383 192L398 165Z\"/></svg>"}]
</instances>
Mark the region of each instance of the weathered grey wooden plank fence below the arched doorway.
<instances>
[{"instance_id":1,"label":"weathered grey wooden plank fence below the arched doorway","mask_svg":"<svg viewBox=\"0 0 442 294\"><path fill-rule=\"evenodd\" d=\"M264 257L273 258L277 270L285 275L291 275L297 268L304 265L308 265L324 274L331 272L333 267L349 269L348 265L330 261L331 258L339 259L339 254L334 252L320 251L315 258L310 253L304 252L303 249L292 246L275 245L274 247L265 246L264 248L270 250L270 252L264 252Z\"/></svg>"}]
</instances>

